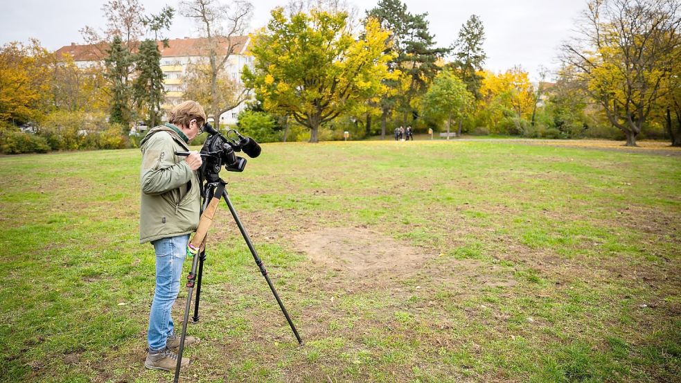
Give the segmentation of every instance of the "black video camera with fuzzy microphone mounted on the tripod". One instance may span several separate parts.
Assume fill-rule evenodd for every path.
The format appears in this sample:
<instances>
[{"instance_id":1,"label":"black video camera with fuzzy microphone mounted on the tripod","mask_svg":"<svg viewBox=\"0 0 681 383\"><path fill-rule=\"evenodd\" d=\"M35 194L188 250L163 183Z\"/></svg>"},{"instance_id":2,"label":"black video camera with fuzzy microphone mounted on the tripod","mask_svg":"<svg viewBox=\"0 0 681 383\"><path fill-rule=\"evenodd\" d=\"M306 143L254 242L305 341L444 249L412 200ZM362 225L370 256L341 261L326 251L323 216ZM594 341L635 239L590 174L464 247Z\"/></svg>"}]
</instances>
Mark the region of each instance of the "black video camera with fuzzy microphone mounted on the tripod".
<instances>
[{"instance_id":1,"label":"black video camera with fuzzy microphone mounted on the tripod","mask_svg":"<svg viewBox=\"0 0 681 383\"><path fill-rule=\"evenodd\" d=\"M202 131L209 134L200 152L204 159L201 171L208 182L217 182L220 179L218 173L223 164L229 172L244 171L246 159L237 156L236 152L244 152L251 158L260 155L260 145L251 137L242 136L237 130L230 129L223 136L210 123L204 123ZM188 156L189 152L175 154Z\"/></svg>"}]
</instances>

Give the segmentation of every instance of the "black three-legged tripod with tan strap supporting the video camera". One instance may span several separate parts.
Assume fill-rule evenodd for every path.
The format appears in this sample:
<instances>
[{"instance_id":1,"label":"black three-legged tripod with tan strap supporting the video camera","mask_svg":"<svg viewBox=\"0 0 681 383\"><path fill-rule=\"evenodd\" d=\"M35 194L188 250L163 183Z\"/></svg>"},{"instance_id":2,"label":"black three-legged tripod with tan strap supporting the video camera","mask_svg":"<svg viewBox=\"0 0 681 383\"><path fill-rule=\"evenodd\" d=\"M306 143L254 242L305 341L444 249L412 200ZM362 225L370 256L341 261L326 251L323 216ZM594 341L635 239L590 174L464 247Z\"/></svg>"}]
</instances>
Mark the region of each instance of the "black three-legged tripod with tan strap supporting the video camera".
<instances>
[{"instance_id":1,"label":"black three-legged tripod with tan strap supporting the video camera","mask_svg":"<svg viewBox=\"0 0 681 383\"><path fill-rule=\"evenodd\" d=\"M236 222L236 225L239 227L239 231L241 231L241 235L246 241L248 249L251 251L251 255L253 255L253 258L256 261L256 265L258 265L260 273L263 274L265 280L267 280L269 290L272 290L272 294L274 294L276 303L279 304L281 312L283 312L284 317L286 317L286 321L288 321L291 330L293 330L293 334L296 336L296 339L298 339L298 344L300 344L301 346L303 345L303 340L301 339L300 335L298 335L298 330L296 330L296 326L294 326L293 321L291 321L288 312L284 308L284 304L281 303L281 299L279 299L279 295L276 293L274 285L272 285L272 280L269 280L269 274L267 274L267 269L265 269L265 264L263 263L263 260L260 260L258 252L256 251L255 247L253 247L251 238L246 232L244 226L241 224L241 220L239 219L239 215L236 213L236 210L234 210L234 206L232 205L231 200L229 199L229 195L227 195L227 190L225 186L227 186L227 182L222 181L222 179L220 178L218 178L218 180L215 182L207 182L206 185L204 186L202 194L204 198L201 215L202 219L199 223L197 233L192 241L192 242L198 241L197 247L199 251L192 260L191 271L189 271L189 274L187 276L187 287L189 290L187 292L186 307L184 308L184 321L182 323L182 335L179 340L179 351L177 352L177 365L175 366L175 378L173 379L173 382L175 383L177 383L177 381L179 380L179 368L182 366L182 353L184 353L184 338L186 337L187 334L187 322L189 320L189 310L191 310L191 299L194 286L196 286L196 301L194 303L194 315L192 317L192 321L194 323L199 321L199 299L201 296L201 277L204 269L204 260L206 260L205 234L208 231L209 226L213 222L213 215L215 213L215 209L218 207L220 199L224 199L224 202L227 203L227 207L229 208L232 217L234 217L234 221ZM197 238L197 236L199 236L199 238Z\"/></svg>"}]
</instances>

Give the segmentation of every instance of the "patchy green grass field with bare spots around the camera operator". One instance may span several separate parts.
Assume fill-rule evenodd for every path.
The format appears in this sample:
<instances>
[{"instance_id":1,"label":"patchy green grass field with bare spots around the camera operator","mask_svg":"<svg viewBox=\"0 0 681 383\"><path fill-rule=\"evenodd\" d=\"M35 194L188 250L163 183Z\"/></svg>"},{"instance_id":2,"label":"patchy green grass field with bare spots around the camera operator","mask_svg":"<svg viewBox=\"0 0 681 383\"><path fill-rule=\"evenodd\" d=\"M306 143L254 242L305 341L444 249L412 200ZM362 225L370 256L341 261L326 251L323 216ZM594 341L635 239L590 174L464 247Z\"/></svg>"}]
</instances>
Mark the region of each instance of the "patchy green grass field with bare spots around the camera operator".
<instances>
[{"instance_id":1,"label":"patchy green grass field with bare spots around the camera operator","mask_svg":"<svg viewBox=\"0 0 681 383\"><path fill-rule=\"evenodd\" d=\"M0 157L1 382L172 379L143 368L139 162ZM223 204L183 382L681 380L681 157L290 143L222 175L306 344Z\"/></svg>"}]
</instances>

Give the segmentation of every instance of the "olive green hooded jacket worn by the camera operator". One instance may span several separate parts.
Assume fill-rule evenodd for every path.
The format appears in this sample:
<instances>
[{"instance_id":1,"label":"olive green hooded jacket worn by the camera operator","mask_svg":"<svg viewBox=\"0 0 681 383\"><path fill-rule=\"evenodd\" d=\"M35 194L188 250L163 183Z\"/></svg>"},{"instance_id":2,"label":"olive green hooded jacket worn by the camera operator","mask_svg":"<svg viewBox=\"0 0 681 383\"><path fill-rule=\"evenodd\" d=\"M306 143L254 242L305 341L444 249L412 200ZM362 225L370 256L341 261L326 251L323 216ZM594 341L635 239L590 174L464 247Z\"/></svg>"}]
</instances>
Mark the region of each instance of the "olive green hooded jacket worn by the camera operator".
<instances>
[{"instance_id":1,"label":"olive green hooded jacket worn by the camera operator","mask_svg":"<svg viewBox=\"0 0 681 383\"><path fill-rule=\"evenodd\" d=\"M176 151L188 151L175 125L154 127L140 142L139 242L192 233L201 209L198 173Z\"/></svg>"}]
</instances>

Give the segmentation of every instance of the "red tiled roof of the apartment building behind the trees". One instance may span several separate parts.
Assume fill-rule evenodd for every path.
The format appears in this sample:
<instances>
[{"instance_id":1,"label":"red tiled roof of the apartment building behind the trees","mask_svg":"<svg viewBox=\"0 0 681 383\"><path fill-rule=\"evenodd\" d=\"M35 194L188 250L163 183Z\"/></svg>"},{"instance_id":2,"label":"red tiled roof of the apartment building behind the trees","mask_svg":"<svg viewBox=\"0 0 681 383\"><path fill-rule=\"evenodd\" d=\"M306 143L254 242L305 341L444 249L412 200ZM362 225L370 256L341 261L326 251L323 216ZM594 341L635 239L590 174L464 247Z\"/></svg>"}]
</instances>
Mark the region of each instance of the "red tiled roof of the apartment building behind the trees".
<instances>
[{"instance_id":1,"label":"red tiled roof of the apartment building behind the trees","mask_svg":"<svg viewBox=\"0 0 681 383\"><path fill-rule=\"evenodd\" d=\"M231 37L231 40L222 38L218 41L220 42L218 44L218 52L221 54L227 53L230 41L231 45L233 45L234 54L245 54L248 51L248 36L234 36ZM206 51L208 39L205 37L197 39L185 37L184 39L169 39L168 47L164 47L163 42L160 41L157 44L159 45L159 51L161 51L161 57L201 56ZM58 57L61 57L61 55L71 55L75 61L100 61L106 57L108 49L109 44L107 43L87 45L71 43L71 45L62 46L55 53Z\"/></svg>"}]
</instances>

